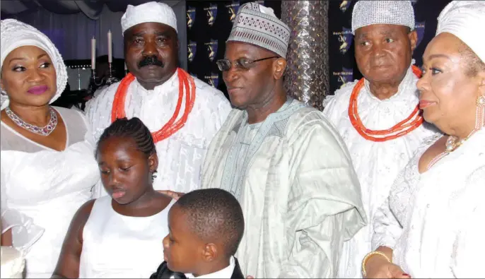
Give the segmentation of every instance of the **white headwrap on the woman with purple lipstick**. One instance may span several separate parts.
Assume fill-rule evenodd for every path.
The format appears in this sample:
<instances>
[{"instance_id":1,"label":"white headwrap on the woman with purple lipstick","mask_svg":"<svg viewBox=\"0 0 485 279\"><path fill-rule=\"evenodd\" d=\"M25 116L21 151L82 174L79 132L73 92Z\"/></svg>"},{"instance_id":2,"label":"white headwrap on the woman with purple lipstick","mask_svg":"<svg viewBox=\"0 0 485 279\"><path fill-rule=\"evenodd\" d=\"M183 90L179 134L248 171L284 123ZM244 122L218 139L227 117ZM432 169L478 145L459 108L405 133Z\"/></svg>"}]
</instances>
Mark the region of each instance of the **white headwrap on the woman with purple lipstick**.
<instances>
[{"instance_id":1,"label":"white headwrap on the woman with purple lipstick","mask_svg":"<svg viewBox=\"0 0 485 279\"><path fill-rule=\"evenodd\" d=\"M57 50L57 47L49 40L49 38L39 30L33 28L32 26L25 24L21 21L14 19L4 19L0 22L0 49L1 49L1 60L0 69L4 66L4 60L7 55L18 47L23 47L27 45L39 47L47 52L54 69L56 69L56 83L57 92L54 97L50 100L50 103L61 97L62 91L66 88L67 83L67 71L64 60ZM8 96L4 93L2 89L1 93L1 109L8 106Z\"/></svg>"}]
</instances>

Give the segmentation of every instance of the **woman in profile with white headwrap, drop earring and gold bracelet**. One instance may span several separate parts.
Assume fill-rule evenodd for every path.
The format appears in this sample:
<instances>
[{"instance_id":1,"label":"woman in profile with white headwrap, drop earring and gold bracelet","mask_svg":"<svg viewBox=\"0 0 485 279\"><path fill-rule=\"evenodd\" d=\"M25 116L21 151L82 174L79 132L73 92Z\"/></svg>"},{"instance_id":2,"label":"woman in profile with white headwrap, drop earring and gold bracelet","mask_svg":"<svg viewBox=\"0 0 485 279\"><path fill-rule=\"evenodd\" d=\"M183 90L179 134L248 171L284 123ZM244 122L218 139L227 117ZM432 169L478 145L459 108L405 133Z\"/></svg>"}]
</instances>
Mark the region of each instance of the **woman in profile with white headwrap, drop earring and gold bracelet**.
<instances>
[{"instance_id":1,"label":"woman in profile with white headwrap, drop earring and gold bracelet","mask_svg":"<svg viewBox=\"0 0 485 279\"><path fill-rule=\"evenodd\" d=\"M418 81L426 141L375 214L368 278L485 278L484 1L452 1L438 17Z\"/></svg>"}]
</instances>

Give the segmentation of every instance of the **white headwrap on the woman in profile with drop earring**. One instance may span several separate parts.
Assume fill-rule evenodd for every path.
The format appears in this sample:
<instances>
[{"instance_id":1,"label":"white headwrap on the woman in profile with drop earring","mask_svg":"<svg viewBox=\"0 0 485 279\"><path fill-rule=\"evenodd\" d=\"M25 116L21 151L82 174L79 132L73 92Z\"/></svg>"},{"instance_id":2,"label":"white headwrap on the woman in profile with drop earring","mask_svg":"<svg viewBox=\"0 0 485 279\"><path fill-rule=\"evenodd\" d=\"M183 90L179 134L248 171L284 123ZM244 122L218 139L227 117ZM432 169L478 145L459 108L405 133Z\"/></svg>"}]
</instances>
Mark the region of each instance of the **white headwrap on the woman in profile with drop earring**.
<instances>
[{"instance_id":1,"label":"white headwrap on the woman in profile with drop earring","mask_svg":"<svg viewBox=\"0 0 485 279\"><path fill-rule=\"evenodd\" d=\"M485 1L452 1L438 16L436 35L448 32L485 62Z\"/></svg>"}]
</instances>

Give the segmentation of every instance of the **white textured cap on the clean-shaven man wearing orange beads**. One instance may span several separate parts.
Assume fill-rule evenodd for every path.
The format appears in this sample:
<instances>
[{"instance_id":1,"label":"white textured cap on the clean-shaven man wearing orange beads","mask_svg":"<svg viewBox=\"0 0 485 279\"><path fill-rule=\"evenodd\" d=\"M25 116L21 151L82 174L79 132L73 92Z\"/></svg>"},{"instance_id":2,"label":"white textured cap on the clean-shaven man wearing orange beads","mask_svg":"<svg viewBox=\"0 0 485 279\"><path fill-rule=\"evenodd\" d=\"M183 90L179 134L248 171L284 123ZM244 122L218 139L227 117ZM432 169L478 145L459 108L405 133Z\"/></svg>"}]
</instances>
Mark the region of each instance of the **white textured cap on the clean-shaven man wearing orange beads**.
<instances>
[{"instance_id":1,"label":"white textured cap on the clean-shaven man wearing orange beads","mask_svg":"<svg viewBox=\"0 0 485 279\"><path fill-rule=\"evenodd\" d=\"M353 35L358 28L373 24L403 25L414 30L411 1L358 1L352 11Z\"/></svg>"}]
</instances>

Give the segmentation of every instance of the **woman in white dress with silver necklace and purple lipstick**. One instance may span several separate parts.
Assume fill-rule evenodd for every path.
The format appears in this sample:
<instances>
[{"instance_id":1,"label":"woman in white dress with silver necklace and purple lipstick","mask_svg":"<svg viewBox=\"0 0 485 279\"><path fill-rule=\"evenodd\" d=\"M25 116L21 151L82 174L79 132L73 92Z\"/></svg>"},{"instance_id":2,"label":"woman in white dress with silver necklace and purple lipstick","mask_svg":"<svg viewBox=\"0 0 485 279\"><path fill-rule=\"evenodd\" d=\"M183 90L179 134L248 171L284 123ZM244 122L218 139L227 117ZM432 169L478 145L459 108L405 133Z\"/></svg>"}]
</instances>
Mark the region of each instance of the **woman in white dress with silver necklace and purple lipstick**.
<instances>
[{"instance_id":1,"label":"woman in white dress with silver necklace and purple lipstick","mask_svg":"<svg viewBox=\"0 0 485 279\"><path fill-rule=\"evenodd\" d=\"M49 278L69 222L99 180L83 114L51 107L66 86L62 57L39 30L1 20L2 245Z\"/></svg>"}]
</instances>

